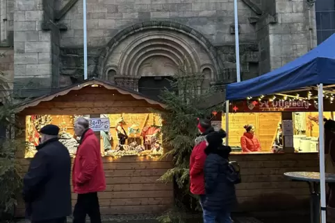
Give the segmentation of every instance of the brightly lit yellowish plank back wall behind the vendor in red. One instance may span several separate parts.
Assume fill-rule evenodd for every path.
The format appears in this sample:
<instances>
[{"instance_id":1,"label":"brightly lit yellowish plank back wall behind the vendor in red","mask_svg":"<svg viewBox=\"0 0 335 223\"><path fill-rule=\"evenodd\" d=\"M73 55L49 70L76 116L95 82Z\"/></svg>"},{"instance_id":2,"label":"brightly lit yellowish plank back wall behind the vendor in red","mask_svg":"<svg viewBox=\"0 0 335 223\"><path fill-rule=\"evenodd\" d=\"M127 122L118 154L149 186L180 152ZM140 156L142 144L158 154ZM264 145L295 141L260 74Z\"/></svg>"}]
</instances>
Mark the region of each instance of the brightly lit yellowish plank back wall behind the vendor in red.
<instances>
[{"instance_id":1,"label":"brightly lit yellowish plank back wall behind the vendor in red","mask_svg":"<svg viewBox=\"0 0 335 223\"><path fill-rule=\"evenodd\" d=\"M281 121L281 113L231 113L229 114L229 145L240 146L240 137L245 132L244 125L252 124L256 128L256 136L259 138L263 151L272 148L272 140L277 131L277 125ZM222 127L226 126L226 119L222 117Z\"/></svg>"}]
</instances>

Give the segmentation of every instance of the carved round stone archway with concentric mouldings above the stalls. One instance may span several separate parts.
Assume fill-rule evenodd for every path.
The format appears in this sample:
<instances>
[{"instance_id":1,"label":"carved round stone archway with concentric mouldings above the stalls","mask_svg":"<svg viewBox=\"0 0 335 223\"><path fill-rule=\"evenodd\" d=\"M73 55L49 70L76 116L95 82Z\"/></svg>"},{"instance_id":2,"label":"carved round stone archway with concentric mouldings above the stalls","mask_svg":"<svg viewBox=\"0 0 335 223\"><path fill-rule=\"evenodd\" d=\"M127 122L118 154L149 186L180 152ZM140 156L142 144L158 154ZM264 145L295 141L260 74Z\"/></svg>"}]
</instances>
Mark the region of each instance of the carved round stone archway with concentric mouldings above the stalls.
<instances>
[{"instance_id":1,"label":"carved round stone archway with concentric mouldings above the stalls","mask_svg":"<svg viewBox=\"0 0 335 223\"><path fill-rule=\"evenodd\" d=\"M99 57L97 75L137 89L141 76L171 75L179 66L188 73L199 73L209 64L211 81L215 81L222 69L216 58L215 48L196 30L172 21L149 21L111 39ZM116 75L109 77L111 73Z\"/></svg>"}]
</instances>

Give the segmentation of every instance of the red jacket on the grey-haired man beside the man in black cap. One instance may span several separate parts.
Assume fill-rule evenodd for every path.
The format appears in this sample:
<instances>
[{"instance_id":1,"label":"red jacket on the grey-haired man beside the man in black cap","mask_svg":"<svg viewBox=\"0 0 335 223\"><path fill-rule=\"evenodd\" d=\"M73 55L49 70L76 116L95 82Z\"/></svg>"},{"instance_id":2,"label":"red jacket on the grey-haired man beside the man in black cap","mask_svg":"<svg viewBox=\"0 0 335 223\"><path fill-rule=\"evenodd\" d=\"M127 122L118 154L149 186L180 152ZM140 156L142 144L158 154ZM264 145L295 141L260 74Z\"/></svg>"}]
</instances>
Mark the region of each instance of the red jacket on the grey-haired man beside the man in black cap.
<instances>
[{"instance_id":1,"label":"red jacket on the grey-haired man beside the man in black cap","mask_svg":"<svg viewBox=\"0 0 335 223\"><path fill-rule=\"evenodd\" d=\"M104 166L99 141L89 129L82 136L72 171L74 193L84 194L106 190Z\"/></svg>"}]
</instances>

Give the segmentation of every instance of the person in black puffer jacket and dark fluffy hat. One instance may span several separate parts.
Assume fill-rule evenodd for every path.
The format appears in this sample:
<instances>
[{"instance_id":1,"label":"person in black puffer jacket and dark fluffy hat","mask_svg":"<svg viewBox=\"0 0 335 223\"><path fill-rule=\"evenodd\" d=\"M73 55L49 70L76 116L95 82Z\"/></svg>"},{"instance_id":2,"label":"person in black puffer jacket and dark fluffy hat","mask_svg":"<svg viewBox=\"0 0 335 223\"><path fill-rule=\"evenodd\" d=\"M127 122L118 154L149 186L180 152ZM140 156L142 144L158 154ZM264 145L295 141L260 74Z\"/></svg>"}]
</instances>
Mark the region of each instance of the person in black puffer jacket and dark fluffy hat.
<instances>
[{"instance_id":1,"label":"person in black puffer jacket and dark fluffy hat","mask_svg":"<svg viewBox=\"0 0 335 223\"><path fill-rule=\"evenodd\" d=\"M224 130L211 132L206 136L207 158L204 166L206 195L202 196L204 223L214 223L215 220L222 223L231 223L231 209L236 204L236 192L234 184L229 180L229 153L231 148L222 145L222 139L226 136Z\"/></svg>"}]
</instances>

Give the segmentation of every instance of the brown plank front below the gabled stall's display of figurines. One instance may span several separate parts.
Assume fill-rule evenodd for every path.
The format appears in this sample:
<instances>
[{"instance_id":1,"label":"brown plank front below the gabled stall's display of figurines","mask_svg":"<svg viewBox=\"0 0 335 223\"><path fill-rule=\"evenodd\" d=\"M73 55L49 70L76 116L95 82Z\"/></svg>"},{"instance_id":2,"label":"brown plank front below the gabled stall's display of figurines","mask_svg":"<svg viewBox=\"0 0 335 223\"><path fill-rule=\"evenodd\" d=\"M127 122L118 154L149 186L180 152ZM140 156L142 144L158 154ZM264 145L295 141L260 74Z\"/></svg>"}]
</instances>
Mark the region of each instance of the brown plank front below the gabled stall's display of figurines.
<instances>
[{"instance_id":1,"label":"brown plank front below the gabled stall's display of figurines","mask_svg":"<svg viewBox=\"0 0 335 223\"><path fill-rule=\"evenodd\" d=\"M28 170L30 159L19 159L22 173ZM149 157L103 157L106 191L99 193L101 215L163 213L173 205L173 185L157 179L172 168L171 161ZM72 204L76 194L72 193ZM17 216L24 216L24 204L19 203Z\"/></svg>"}]
</instances>

